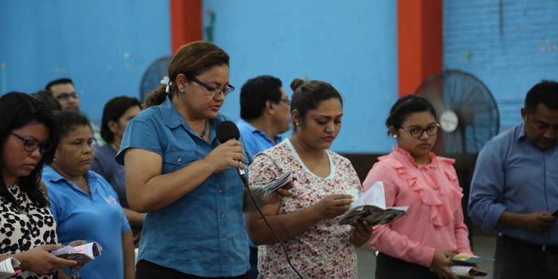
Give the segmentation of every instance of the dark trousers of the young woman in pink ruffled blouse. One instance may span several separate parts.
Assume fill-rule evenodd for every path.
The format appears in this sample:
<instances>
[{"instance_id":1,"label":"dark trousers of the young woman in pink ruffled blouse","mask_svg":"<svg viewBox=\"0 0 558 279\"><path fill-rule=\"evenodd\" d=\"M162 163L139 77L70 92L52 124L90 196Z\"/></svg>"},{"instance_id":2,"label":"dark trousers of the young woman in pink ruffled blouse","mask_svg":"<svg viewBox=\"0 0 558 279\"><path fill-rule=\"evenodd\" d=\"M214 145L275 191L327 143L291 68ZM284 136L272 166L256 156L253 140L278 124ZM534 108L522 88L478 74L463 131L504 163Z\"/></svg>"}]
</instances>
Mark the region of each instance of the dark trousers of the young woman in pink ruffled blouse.
<instances>
[{"instance_id":1,"label":"dark trousers of the young woman in pink ruffled blouse","mask_svg":"<svg viewBox=\"0 0 558 279\"><path fill-rule=\"evenodd\" d=\"M439 279L428 267L407 262L382 252L376 257L376 279Z\"/></svg>"}]
</instances>

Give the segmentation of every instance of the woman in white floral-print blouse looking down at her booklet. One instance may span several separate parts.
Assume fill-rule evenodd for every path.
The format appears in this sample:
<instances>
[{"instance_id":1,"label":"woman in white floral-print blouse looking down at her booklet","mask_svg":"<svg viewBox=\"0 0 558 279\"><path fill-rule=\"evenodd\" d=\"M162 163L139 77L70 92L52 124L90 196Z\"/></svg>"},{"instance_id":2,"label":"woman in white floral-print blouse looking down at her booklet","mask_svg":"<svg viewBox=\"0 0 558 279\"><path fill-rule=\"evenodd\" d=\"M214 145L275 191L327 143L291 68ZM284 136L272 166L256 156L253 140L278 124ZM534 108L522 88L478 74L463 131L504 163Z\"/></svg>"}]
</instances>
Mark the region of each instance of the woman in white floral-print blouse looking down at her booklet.
<instances>
[{"instance_id":1,"label":"woman in white floral-print blouse looking down at her booklet","mask_svg":"<svg viewBox=\"0 0 558 279\"><path fill-rule=\"evenodd\" d=\"M262 209L289 259L303 278L356 278L355 247L370 239L372 228L337 224L352 202L347 190L361 190L349 160L327 150L341 128L341 96L320 81L296 79L291 88L294 133L255 156L250 184L265 184L291 169L296 181L289 197ZM250 213L246 222L250 239L259 245L259 278L296 278L261 216Z\"/></svg>"}]
</instances>

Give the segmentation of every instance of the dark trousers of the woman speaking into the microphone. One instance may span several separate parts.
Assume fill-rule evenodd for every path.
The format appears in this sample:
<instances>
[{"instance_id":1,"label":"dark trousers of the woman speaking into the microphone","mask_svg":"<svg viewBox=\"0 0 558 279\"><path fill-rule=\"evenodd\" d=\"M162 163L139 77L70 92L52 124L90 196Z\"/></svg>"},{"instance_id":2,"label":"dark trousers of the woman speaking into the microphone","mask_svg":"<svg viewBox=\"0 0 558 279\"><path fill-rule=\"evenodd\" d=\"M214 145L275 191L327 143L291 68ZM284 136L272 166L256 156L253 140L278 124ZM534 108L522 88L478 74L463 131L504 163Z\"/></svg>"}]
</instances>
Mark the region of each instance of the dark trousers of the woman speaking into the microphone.
<instances>
[{"instance_id":1,"label":"dark trousers of the woman speaking into the microphone","mask_svg":"<svg viewBox=\"0 0 558 279\"><path fill-rule=\"evenodd\" d=\"M135 279L202 279L208 277L199 277L192 274L181 273L176 269L169 269L165 266L153 264L142 259L135 266ZM212 279L225 277L211 277ZM226 277L227 279L248 279L248 273L241 276Z\"/></svg>"}]
</instances>

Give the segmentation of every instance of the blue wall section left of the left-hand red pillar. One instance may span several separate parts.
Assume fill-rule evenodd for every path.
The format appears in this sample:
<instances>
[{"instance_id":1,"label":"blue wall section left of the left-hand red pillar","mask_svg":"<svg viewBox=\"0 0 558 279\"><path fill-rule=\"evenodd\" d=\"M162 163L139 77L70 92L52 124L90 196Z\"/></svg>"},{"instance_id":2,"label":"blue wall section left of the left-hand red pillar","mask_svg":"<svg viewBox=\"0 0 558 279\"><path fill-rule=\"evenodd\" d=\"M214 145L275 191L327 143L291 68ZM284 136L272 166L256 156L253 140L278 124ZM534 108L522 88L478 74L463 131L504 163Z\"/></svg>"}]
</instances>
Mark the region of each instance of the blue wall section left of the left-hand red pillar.
<instances>
[{"instance_id":1,"label":"blue wall section left of the left-hand red pillar","mask_svg":"<svg viewBox=\"0 0 558 279\"><path fill-rule=\"evenodd\" d=\"M70 77L82 112L98 122L110 98L140 97L144 70L171 52L169 24L160 0L0 1L5 89L32 93Z\"/></svg>"}]
</instances>

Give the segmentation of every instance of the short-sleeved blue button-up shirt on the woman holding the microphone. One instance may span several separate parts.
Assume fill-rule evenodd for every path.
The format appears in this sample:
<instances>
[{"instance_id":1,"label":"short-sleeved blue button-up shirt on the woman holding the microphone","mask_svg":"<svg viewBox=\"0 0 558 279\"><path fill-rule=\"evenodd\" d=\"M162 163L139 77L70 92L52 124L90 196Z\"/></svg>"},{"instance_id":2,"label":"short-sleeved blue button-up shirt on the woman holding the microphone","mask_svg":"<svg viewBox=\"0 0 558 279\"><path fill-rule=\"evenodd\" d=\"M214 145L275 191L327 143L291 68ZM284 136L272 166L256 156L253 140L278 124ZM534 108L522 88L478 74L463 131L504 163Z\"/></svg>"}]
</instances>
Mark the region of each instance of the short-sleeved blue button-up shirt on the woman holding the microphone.
<instances>
[{"instance_id":1,"label":"short-sleeved blue button-up shirt on the woman holding the microphone","mask_svg":"<svg viewBox=\"0 0 558 279\"><path fill-rule=\"evenodd\" d=\"M211 120L207 143L167 98L128 123L116 160L123 163L123 151L128 148L145 149L163 157L162 174L176 172L204 158L220 144L215 130L225 120L229 118L224 114ZM248 165L252 158L246 152L246 144L240 141ZM246 273L250 262L243 229L243 197L239 174L229 168L212 174L164 209L146 213L137 260L145 259L196 276Z\"/></svg>"}]
</instances>

